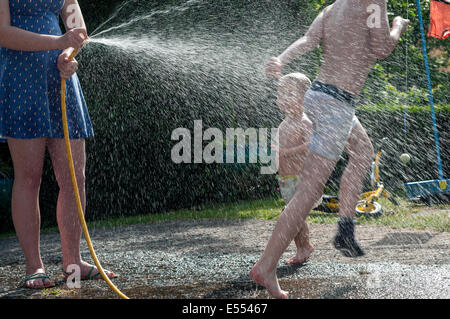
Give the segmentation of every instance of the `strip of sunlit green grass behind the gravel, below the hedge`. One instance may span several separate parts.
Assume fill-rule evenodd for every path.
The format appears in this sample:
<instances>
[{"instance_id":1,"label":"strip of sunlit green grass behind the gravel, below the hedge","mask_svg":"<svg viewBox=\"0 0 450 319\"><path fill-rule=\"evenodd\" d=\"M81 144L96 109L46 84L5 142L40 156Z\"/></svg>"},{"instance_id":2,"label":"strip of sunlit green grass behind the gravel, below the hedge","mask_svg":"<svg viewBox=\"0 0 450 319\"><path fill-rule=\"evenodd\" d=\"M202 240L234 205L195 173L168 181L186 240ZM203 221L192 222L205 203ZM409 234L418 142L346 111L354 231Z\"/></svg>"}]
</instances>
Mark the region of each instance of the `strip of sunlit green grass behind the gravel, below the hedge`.
<instances>
[{"instance_id":1,"label":"strip of sunlit green grass behind the gravel, below the hedge","mask_svg":"<svg viewBox=\"0 0 450 319\"><path fill-rule=\"evenodd\" d=\"M383 214L378 218L358 217L360 225L383 226L391 228L427 229L433 231L450 231L450 205L425 206L399 200L399 206L388 200L379 200L383 206ZM89 222L88 227L101 228L120 225L133 225L151 223L164 220L182 219L262 219L276 220L283 209L282 199L267 198L262 200L241 201L229 204L216 204L202 209L184 209L162 214L147 214L133 217L119 217L108 220ZM310 223L335 224L337 214L312 211L307 219ZM43 229L42 232L57 232L56 227ZM0 237L9 237L12 234L3 234Z\"/></svg>"}]
</instances>

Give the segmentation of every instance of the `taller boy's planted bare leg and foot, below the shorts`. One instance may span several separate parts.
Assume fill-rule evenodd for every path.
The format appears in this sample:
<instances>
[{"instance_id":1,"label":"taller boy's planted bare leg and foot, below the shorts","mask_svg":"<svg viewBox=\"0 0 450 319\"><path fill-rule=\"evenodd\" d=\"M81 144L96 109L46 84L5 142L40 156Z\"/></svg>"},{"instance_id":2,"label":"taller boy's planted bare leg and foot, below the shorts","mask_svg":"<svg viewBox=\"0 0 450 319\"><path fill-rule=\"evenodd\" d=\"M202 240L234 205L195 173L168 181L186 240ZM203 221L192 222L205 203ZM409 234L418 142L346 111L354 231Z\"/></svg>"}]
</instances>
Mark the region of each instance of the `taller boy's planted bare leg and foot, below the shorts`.
<instances>
[{"instance_id":1,"label":"taller boy's planted bare leg and foot, below the shorts","mask_svg":"<svg viewBox=\"0 0 450 319\"><path fill-rule=\"evenodd\" d=\"M250 278L267 288L275 298L287 298L288 293L281 290L276 276L276 267L281 255L299 233L302 223L314 203L323 193L325 184L336 162L314 152L305 159L302 183L277 221L266 249L250 272Z\"/></svg>"}]
</instances>

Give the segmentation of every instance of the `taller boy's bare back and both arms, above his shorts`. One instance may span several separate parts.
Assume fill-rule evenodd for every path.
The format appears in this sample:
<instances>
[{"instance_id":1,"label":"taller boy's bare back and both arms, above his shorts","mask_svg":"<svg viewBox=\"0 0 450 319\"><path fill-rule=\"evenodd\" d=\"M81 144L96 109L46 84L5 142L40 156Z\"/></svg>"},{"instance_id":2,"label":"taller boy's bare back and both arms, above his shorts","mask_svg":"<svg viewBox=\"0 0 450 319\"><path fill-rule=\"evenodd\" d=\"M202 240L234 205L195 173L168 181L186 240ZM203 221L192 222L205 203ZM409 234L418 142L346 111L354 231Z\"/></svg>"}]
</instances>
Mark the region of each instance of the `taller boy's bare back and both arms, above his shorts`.
<instances>
[{"instance_id":1,"label":"taller boy's bare back and both arms, above his shorts","mask_svg":"<svg viewBox=\"0 0 450 319\"><path fill-rule=\"evenodd\" d=\"M370 24L374 14L378 14L377 25ZM397 17L391 32L386 0L337 0L316 17L305 36L280 55L278 62L282 68L321 44L323 62L317 80L357 96L375 62L392 52L408 23ZM278 71L281 69L275 73Z\"/></svg>"}]
</instances>

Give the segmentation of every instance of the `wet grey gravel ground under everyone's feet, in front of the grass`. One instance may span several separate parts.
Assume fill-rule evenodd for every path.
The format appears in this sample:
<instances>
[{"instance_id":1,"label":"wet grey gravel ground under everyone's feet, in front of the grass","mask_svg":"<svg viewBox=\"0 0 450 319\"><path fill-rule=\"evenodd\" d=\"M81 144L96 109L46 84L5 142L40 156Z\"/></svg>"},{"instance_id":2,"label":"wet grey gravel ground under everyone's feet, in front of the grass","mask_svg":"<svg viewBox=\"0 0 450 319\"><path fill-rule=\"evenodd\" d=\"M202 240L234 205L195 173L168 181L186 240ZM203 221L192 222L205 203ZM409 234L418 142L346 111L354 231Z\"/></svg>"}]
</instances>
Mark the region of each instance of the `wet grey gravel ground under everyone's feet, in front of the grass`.
<instances>
[{"instance_id":1,"label":"wet grey gravel ground under everyone's feet, in front of the grass","mask_svg":"<svg viewBox=\"0 0 450 319\"><path fill-rule=\"evenodd\" d=\"M119 274L114 284L130 298L267 298L248 273L275 221L178 220L92 229L102 266ZM450 234L357 226L366 256L352 259L332 247L335 225L310 224L315 251L308 263L286 266L278 276L291 298L450 297ZM0 298L117 298L103 280L68 289L61 277L59 234L42 234L41 253L56 289L19 288L24 257L16 238L0 240ZM87 245L82 256L92 262Z\"/></svg>"}]
</instances>

